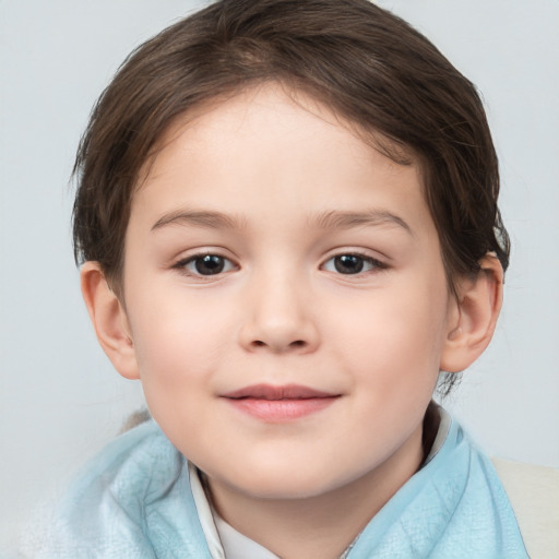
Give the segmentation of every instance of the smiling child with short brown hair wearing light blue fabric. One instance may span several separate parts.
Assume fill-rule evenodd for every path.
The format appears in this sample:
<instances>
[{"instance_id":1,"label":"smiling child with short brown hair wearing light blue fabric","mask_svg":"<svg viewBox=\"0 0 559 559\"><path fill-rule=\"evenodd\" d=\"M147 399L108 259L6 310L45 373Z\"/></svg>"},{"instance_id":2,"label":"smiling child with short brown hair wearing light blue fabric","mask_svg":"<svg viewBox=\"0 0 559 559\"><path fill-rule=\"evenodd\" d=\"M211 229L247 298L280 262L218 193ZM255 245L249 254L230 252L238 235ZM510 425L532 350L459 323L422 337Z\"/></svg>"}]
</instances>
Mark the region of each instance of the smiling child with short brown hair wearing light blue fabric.
<instances>
[{"instance_id":1,"label":"smiling child with short brown hair wearing light blue fabric","mask_svg":"<svg viewBox=\"0 0 559 559\"><path fill-rule=\"evenodd\" d=\"M431 401L509 246L481 104L427 39L366 0L218 1L127 60L76 169L84 299L154 421L43 557L527 557Z\"/></svg>"}]
</instances>

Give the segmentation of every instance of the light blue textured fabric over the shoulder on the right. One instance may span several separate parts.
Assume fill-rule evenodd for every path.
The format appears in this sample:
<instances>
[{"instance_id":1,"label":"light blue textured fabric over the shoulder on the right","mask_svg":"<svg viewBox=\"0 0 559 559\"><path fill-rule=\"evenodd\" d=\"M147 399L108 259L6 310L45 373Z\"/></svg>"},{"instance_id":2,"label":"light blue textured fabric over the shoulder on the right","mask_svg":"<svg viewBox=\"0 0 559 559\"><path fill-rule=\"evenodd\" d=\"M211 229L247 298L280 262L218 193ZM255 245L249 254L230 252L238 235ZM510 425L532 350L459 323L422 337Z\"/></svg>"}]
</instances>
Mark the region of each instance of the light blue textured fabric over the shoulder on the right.
<instances>
[{"instance_id":1,"label":"light blue textured fabric over the shoulder on the right","mask_svg":"<svg viewBox=\"0 0 559 559\"><path fill-rule=\"evenodd\" d=\"M490 460L456 421L439 452L379 511L347 559L528 559Z\"/></svg>"}]
</instances>

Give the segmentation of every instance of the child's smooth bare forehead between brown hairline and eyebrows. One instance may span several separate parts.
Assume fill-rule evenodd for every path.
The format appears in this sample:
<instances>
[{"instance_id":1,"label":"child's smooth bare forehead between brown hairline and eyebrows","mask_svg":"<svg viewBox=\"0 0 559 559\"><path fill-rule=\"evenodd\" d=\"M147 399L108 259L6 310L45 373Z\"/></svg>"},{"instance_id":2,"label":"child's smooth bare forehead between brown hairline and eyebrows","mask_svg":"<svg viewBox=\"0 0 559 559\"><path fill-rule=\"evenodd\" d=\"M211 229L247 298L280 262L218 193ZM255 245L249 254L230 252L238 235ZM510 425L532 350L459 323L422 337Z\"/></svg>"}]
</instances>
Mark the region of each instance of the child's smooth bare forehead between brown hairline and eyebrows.
<instances>
[{"instance_id":1,"label":"child's smooth bare forehead between brown hairline and eyebrows","mask_svg":"<svg viewBox=\"0 0 559 559\"><path fill-rule=\"evenodd\" d=\"M277 84L215 99L169 127L132 215L141 202L152 213L194 204L242 215L257 202L260 213L263 204L274 213L355 211L359 192L381 182L370 203L415 204L413 213L429 219L417 165L395 163L382 153L388 140L364 135L313 97Z\"/></svg>"}]
</instances>

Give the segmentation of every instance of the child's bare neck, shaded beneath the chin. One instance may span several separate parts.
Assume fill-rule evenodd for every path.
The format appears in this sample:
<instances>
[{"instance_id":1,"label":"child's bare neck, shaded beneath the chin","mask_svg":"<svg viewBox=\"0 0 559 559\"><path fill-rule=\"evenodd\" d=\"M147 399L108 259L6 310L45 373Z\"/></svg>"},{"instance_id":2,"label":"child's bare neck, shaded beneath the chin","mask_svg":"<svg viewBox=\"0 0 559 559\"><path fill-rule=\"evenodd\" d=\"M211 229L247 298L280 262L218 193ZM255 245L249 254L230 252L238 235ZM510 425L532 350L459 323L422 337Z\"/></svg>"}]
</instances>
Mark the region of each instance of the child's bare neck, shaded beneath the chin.
<instances>
[{"instance_id":1,"label":"child's bare neck, shaded beneath the chin","mask_svg":"<svg viewBox=\"0 0 559 559\"><path fill-rule=\"evenodd\" d=\"M360 478L301 499L265 499L209 479L209 497L234 528L283 559L337 559L424 460L421 426Z\"/></svg>"}]
</instances>

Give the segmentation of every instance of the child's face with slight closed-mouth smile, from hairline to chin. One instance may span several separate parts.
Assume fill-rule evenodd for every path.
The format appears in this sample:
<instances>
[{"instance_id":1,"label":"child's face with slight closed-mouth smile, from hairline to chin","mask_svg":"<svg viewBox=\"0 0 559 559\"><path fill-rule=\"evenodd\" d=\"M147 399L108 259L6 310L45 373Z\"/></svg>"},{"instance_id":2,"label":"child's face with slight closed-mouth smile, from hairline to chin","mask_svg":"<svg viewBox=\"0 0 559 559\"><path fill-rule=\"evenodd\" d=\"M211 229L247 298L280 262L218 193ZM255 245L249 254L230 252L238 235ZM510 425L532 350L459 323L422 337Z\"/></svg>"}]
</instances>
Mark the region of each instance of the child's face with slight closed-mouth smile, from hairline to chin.
<instances>
[{"instance_id":1,"label":"child's face with slight closed-mouth smile, from hairline to chin","mask_svg":"<svg viewBox=\"0 0 559 559\"><path fill-rule=\"evenodd\" d=\"M151 412L250 496L411 475L457 312L418 168L300 100L265 86L177 123L126 240Z\"/></svg>"}]
</instances>

